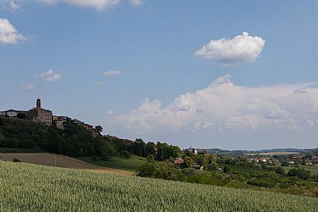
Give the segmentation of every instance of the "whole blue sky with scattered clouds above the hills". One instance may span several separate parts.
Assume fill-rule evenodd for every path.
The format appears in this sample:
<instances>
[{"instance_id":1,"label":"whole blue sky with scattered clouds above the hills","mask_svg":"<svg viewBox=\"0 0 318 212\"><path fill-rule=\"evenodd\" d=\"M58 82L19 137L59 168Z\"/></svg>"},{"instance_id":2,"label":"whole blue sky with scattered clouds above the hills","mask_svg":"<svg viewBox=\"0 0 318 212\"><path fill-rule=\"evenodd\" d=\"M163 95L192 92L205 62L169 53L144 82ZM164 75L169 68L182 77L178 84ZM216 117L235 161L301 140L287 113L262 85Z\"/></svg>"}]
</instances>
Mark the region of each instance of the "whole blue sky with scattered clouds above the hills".
<instances>
[{"instance_id":1,"label":"whole blue sky with scattered clouds above the hills","mask_svg":"<svg viewBox=\"0 0 318 212\"><path fill-rule=\"evenodd\" d=\"M318 1L0 0L0 111L120 138L318 143Z\"/></svg>"}]
</instances>

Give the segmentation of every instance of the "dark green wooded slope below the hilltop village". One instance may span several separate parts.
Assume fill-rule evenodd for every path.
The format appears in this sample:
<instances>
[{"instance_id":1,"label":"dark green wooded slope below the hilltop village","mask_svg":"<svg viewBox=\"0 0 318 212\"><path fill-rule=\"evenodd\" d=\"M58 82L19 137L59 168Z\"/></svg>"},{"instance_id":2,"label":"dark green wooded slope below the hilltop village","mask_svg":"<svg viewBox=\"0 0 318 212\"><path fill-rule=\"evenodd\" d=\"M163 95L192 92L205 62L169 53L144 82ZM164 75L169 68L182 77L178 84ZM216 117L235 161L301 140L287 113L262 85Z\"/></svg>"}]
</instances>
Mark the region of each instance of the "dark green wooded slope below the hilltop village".
<instances>
[{"instance_id":1,"label":"dark green wooded slope below the hilltop village","mask_svg":"<svg viewBox=\"0 0 318 212\"><path fill-rule=\"evenodd\" d=\"M97 126L95 130L101 133L102 127ZM43 123L1 116L0 147L38 148L66 156L95 156L103 160L109 160L111 156L128 158L131 154L136 154L152 155L155 160L164 161L178 156L181 152L179 147L164 142L145 143L141 139L127 142L115 136L93 138L90 131L72 124L71 120L64 123L62 130Z\"/></svg>"}]
</instances>

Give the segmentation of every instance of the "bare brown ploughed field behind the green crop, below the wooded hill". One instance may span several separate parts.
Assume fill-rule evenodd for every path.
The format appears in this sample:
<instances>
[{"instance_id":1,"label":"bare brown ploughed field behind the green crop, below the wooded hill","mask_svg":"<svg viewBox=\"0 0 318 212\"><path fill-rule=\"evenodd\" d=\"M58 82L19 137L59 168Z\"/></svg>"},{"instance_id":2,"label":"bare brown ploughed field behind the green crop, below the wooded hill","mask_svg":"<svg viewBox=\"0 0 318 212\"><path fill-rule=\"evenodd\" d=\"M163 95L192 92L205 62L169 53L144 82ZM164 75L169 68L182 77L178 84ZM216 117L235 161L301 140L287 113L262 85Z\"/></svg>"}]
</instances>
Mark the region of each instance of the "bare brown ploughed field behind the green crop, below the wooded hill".
<instances>
[{"instance_id":1,"label":"bare brown ploughed field behind the green crop, below the wooded hill","mask_svg":"<svg viewBox=\"0 0 318 212\"><path fill-rule=\"evenodd\" d=\"M116 170L99 165L93 165L74 158L51 153L0 153L1 160L13 161L13 158L19 159L23 163L35 163L39 165L54 166L54 156L56 156L56 166L61 168L73 168L77 170L89 170L92 172L108 172L122 175L132 175L134 172L125 170Z\"/></svg>"}]
</instances>

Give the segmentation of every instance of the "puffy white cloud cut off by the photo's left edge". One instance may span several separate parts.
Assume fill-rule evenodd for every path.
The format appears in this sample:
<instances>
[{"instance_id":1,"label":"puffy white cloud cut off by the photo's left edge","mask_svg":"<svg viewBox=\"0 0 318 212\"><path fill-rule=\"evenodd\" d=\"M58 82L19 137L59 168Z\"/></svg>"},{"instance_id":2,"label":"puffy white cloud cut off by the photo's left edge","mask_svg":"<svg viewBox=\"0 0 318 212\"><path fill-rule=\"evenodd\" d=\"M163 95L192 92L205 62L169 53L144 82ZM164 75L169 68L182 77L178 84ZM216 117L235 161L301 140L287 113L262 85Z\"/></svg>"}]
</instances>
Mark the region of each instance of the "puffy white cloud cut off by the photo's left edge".
<instances>
[{"instance_id":1,"label":"puffy white cloud cut off by the photo's left edge","mask_svg":"<svg viewBox=\"0 0 318 212\"><path fill-rule=\"evenodd\" d=\"M17 44L26 40L30 40L30 38L19 33L8 19L0 18L0 43Z\"/></svg>"}]
</instances>

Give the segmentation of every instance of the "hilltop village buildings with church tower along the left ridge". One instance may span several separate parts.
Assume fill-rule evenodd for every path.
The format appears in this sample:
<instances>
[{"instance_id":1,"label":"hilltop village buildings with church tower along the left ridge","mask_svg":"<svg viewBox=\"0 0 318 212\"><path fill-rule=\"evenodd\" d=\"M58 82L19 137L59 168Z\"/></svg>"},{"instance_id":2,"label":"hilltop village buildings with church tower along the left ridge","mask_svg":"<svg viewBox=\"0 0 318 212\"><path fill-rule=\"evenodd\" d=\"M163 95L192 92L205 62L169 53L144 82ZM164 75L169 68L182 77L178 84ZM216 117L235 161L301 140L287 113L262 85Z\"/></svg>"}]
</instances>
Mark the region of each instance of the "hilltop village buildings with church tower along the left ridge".
<instances>
[{"instance_id":1,"label":"hilltop village buildings with church tower along the left ridge","mask_svg":"<svg viewBox=\"0 0 318 212\"><path fill-rule=\"evenodd\" d=\"M19 117L26 120L31 120L32 122L42 122L47 125L54 125L58 129L64 129L64 123L70 120L72 124L77 124L88 129L94 137L100 135L99 131L96 131L94 127L90 124L86 124L80 120L72 120L67 116L57 116L53 115L52 111L41 107L41 100L36 100L36 106L31 108L29 111L17 111L10 109L8 111L0 111L0 115L6 117Z\"/></svg>"}]
</instances>

